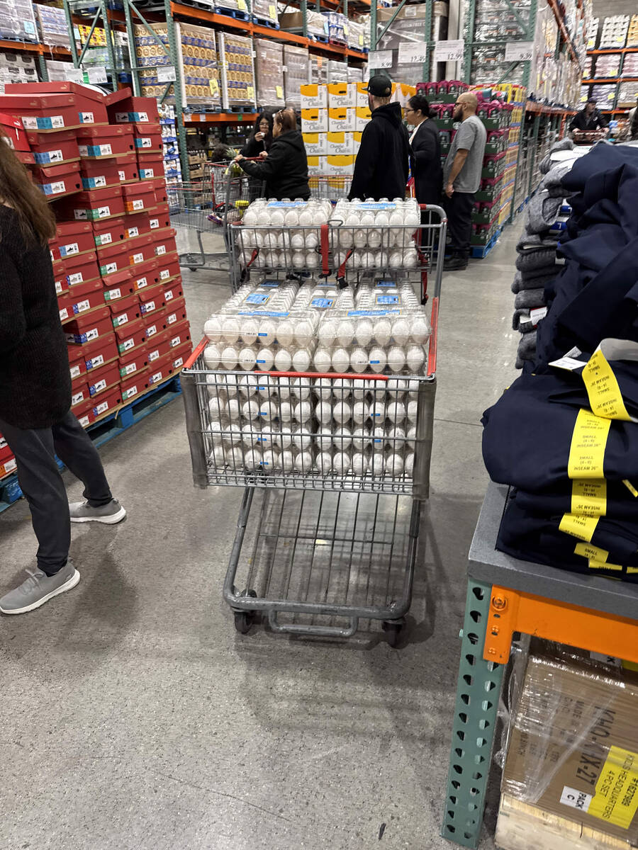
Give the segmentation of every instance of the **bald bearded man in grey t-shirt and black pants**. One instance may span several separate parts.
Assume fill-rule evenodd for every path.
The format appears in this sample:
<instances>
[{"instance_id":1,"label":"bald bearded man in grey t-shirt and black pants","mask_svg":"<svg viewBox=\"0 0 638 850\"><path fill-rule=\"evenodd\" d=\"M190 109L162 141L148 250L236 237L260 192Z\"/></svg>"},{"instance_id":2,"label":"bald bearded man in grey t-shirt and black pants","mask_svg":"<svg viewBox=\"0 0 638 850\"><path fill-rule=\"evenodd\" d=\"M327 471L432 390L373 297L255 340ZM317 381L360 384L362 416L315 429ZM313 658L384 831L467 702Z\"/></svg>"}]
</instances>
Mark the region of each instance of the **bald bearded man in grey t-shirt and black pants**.
<instances>
[{"instance_id":1,"label":"bald bearded man in grey t-shirt and black pants","mask_svg":"<svg viewBox=\"0 0 638 850\"><path fill-rule=\"evenodd\" d=\"M454 121L461 126L454 134L443 167L443 206L447 212L447 233L452 256L443 269L467 269L472 235L474 195L481 185L481 170L487 133L476 116L478 100L473 92L459 94L454 106Z\"/></svg>"}]
</instances>

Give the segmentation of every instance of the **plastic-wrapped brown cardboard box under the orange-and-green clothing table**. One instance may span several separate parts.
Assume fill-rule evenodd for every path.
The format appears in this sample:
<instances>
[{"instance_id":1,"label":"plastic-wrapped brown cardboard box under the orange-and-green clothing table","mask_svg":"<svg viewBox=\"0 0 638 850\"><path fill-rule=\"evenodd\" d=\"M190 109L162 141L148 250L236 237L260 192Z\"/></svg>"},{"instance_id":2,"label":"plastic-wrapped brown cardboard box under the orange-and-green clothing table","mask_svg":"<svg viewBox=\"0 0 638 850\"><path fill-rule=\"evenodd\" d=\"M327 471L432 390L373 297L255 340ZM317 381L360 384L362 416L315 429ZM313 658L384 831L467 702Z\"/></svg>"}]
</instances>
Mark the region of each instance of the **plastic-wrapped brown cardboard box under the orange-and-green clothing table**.
<instances>
[{"instance_id":1,"label":"plastic-wrapped brown cardboard box under the orange-and-green clothing table","mask_svg":"<svg viewBox=\"0 0 638 850\"><path fill-rule=\"evenodd\" d=\"M510 728L505 794L638 842L638 672L535 642Z\"/></svg>"}]
</instances>

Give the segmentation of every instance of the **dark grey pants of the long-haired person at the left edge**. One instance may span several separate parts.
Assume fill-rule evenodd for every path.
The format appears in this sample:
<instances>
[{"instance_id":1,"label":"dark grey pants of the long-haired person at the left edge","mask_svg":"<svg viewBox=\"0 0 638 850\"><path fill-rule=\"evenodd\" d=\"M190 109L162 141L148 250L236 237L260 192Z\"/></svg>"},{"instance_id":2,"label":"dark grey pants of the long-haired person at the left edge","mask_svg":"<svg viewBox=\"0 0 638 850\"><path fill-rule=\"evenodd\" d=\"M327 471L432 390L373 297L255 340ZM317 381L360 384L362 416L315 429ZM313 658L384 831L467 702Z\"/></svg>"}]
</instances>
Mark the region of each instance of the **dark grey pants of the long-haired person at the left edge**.
<instances>
[{"instance_id":1,"label":"dark grey pants of the long-haired person at the left edge","mask_svg":"<svg viewBox=\"0 0 638 850\"><path fill-rule=\"evenodd\" d=\"M112 498L100 455L71 411L53 428L22 430L0 420L0 433L15 455L31 509L38 569L54 575L65 566L71 545L69 503L55 455L83 482L84 498L93 507Z\"/></svg>"}]
</instances>

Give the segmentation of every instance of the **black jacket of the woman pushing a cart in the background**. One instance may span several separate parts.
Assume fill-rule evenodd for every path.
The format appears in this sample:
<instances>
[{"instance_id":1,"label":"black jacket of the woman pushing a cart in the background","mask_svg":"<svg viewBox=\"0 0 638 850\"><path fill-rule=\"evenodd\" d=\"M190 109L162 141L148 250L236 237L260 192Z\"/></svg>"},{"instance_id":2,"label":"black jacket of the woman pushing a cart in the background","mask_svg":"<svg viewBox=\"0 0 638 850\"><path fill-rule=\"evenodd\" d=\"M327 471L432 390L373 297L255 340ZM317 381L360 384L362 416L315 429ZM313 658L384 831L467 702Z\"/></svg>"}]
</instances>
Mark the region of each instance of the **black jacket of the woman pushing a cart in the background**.
<instances>
[{"instance_id":1,"label":"black jacket of the woman pushing a cart in the background","mask_svg":"<svg viewBox=\"0 0 638 850\"><path fill-rule=\"evenodd\" d=\"M310 197L308 185L308 160L305 156L304 139L299 130L290 130L277 136L271 144L268 156L261 162L239 162L251 177L266 182L266 196L276 198Z\"/></svg>"}]
</instances>

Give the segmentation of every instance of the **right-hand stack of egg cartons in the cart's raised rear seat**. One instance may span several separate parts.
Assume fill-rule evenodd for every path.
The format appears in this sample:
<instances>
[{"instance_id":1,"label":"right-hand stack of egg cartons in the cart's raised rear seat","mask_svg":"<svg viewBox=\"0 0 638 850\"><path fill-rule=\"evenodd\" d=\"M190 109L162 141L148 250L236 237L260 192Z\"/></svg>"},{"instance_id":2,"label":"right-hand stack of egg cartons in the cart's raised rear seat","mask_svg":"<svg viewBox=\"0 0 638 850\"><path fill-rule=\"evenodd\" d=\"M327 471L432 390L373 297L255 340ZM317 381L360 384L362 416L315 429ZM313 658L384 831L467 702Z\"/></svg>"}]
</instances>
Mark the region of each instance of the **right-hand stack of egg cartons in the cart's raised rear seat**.
<instances>
[{"instance_id":1,"label":"right-hand stack of egg cartons in the cart's raised rear seat","mask_svg":"<svg viewBox=\"0 0 638 850\"><path fill-rule=\"evenodd\" d=\"M331 217L334 264L351 270L415 269L419 254L414 233L419 204L403 201L338 201Z\"/></svg>"}]
</instances>

